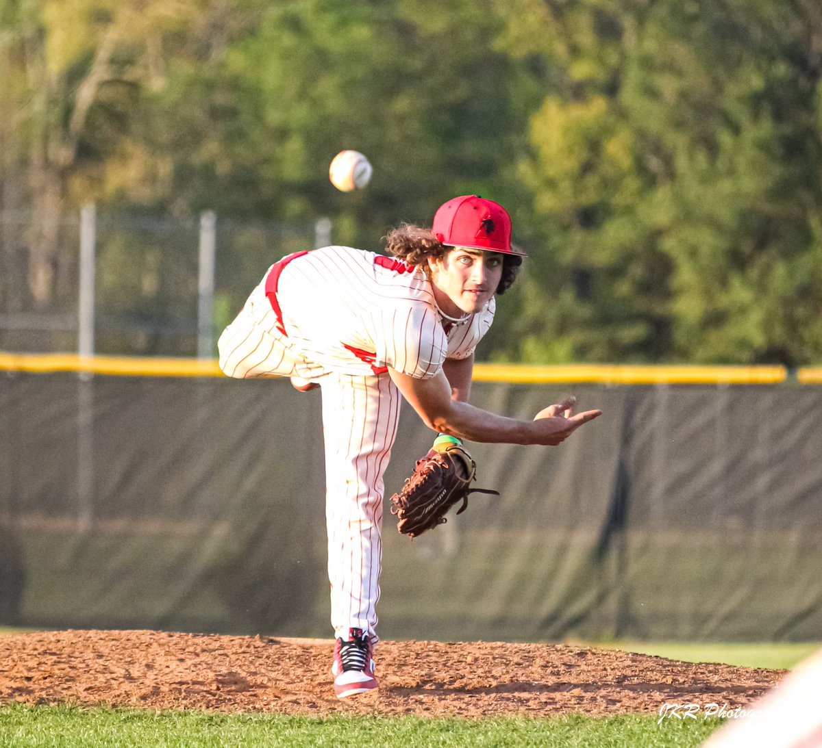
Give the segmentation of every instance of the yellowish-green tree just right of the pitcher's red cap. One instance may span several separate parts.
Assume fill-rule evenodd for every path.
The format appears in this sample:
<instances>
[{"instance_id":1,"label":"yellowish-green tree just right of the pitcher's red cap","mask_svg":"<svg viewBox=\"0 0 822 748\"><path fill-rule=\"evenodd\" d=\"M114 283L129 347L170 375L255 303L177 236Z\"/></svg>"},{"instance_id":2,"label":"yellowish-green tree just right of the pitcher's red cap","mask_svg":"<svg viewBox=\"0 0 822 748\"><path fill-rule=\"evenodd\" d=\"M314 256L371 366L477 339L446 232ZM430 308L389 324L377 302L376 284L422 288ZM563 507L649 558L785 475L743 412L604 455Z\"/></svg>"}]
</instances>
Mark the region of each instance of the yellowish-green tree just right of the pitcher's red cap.
<instances>
[{"instance_id":1,"label":"yellowish-green tree just right of the pitcher's red cap","mask_svg":"<svg viewBox=\"0 0 822 748\"><path fill-rule=\"evenodd\" d=\"M506 48L542 88L518 176L530 192L529 259L508 346L534 363L658 360L667 275L647 216L653 177L622 98L643 2L510 6Z\"/></svg>"}]
</instances>

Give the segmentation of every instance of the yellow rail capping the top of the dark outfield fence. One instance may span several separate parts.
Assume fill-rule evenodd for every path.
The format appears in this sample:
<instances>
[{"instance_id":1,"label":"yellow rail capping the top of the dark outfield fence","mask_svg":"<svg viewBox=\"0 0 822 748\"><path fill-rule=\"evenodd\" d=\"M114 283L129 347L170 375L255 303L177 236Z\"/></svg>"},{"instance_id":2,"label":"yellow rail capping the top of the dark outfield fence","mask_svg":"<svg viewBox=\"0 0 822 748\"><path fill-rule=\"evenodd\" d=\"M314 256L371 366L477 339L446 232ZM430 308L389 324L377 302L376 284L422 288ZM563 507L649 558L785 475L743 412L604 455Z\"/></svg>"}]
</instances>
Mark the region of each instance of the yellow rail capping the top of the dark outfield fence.
<instances>
[{"instance_id":1,"label":"yellow rail capping the top of the dark outfield fence","mask_svg":"<svg viewBox=\"0 0 822 748\"><path fill-rule=\"evenodd\" d=\"M111 376L221 377L216 360L142 358L76 354L0 352L0 371L34 374L77 372ZM524 366L477 364L476 382L520 384L778 384L787 381L784 366L619 366L607 364ZM801 384L822 384L822 369L799 369Z\"/></svg>"}]
</instances>

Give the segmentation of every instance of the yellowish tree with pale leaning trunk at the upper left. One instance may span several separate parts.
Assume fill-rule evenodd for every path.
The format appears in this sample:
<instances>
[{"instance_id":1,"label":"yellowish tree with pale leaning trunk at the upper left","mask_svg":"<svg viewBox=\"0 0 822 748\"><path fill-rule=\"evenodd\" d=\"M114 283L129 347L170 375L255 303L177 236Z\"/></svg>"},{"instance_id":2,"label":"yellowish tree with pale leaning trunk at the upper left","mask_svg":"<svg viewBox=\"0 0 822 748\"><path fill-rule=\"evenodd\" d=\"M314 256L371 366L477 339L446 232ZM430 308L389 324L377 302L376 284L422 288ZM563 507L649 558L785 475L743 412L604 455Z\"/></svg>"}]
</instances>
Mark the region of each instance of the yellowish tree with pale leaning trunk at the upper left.
<instances>
[{"instance_id":1,"label":"yellowish tree with pale leaning trunk at the upper left","mask_svg":"<svg viewBox=\"0 0 822 748\"><path fill-rule=\"evenodd\" d=\"M204 23L206 0L6 0L2 18L2 132L14 144L3 194L30 204L29 291L35 309L52 300L71 260L61 249L62 213L90 196L88 179L127 131L141 87L164 79L169 48Z\"/></svg>"}]
</instances>

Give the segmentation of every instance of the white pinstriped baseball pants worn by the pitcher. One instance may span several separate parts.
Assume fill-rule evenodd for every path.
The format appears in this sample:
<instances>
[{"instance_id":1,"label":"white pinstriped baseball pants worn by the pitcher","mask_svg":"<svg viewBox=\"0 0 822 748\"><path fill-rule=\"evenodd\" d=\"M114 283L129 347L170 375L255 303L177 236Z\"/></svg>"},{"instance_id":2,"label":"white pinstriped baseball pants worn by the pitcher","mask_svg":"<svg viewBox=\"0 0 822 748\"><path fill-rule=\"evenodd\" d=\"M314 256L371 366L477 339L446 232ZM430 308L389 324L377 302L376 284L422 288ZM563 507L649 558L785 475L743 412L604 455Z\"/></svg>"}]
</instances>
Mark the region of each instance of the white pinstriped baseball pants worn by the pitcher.
<instances>
[{"instance_id":1,"label":"white pinstriped baseball pants worn by the pitcher","mask_svg":"<svg viewBox=\"0 0 822 748\"><path fill-rule=\"evenodd\" d=\"M224 330L218 347L225 374L245 379L297 373L298 362L284 338L261 322L243 310ZM397 434L401 397L388 374L325 372L319 381L331 625L336 637L360 628L376 643L383 475Z\"/></svg>"}]
</instances>

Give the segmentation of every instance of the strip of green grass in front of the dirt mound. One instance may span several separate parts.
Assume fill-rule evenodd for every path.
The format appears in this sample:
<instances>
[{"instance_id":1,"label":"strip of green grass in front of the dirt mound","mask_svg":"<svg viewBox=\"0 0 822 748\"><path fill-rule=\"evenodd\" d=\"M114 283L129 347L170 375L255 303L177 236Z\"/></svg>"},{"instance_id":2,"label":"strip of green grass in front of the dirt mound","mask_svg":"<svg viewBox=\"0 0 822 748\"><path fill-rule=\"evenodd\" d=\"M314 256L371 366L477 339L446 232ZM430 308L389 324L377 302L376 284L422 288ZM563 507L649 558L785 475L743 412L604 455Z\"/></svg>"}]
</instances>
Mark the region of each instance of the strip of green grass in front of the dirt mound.
<instances>
[{"instance_id":1,"label":"strip of green grass in front of the dirt mound","mask_svg":"<svg viewBox=\"0 0 822 748\"><path fill-rule=\"evenodd\" d=\"M4 748L218 746L699 746L721 723L656 717L556 719L298 718L76 707L0 708Z\"/></svg>"}]
</instances>

